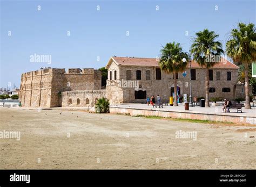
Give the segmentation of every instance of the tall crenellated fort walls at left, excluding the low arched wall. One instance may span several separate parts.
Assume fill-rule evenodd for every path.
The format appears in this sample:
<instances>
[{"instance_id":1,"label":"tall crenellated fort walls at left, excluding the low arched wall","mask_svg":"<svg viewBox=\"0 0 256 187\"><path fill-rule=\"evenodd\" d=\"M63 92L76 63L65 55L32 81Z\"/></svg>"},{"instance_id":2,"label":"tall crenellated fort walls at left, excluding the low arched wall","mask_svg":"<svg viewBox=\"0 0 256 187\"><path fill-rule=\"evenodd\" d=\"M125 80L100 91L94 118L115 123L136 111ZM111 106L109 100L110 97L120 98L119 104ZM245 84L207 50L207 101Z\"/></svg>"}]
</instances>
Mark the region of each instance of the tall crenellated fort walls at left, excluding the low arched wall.
<instances>
[{"instance_id":1,"label":"tall crenellated fort walls at left, excluding the low arched wall","mask_svg":"<svg viewBox=\"0 0 256 187\"><path fill-rule=\"evenodd\" d=\"M88 69L41 69L22 74L20 101L25 107L62 106L61 92L101 89L101 72Z\"/></svg>"}]
</instances>

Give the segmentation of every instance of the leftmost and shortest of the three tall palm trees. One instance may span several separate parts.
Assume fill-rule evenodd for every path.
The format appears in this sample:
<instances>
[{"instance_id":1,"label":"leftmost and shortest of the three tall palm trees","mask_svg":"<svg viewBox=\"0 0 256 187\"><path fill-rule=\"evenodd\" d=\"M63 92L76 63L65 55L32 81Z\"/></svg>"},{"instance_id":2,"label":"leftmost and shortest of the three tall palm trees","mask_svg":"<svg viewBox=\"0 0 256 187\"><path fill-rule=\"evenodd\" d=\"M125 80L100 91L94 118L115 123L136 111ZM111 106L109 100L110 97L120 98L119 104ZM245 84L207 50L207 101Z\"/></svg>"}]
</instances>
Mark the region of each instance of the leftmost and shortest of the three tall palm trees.
<instances>
[{"instance_id":1,"label":"leftmost and shortest of the three tall palm trees","mask_svg":"<svg viewBox=\"0 0 256 187\"><path fill-rule=\"evenodd\" d=\"M176 74L178 72L182 72L187 67L187 62L183 62L182 59L184 57L188 57L186 53L182 51L179 43L167 43L160 50L161 55L159 59L159 66L161 70L165 73L170 74L173 73L174 78L174 106L178 106L177 104L177 77Z\"/></svg>"}]
</instances>

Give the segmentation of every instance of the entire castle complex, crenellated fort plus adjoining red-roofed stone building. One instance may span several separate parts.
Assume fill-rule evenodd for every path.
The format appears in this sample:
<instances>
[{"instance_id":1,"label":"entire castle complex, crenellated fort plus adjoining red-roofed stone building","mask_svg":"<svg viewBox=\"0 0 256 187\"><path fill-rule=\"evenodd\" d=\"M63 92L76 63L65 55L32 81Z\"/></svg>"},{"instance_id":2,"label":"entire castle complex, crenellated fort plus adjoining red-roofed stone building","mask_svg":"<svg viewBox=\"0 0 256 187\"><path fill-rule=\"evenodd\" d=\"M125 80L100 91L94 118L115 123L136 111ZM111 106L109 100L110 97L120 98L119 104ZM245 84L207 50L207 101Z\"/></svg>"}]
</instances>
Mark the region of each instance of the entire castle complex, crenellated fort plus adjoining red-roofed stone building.
<instances>
[{"instance_id":1,"label":"entire castle complex, crenellated fort plus adjoining red-roofed stone building","mask_svg":"<svg viewBox=\"0 0 256 187\"><path fill-rule=\"evenodd\" d=\"M165 74L156 58L110 57L106 64L108 78L102 89L101 71L86 69L41 68L22 74L19 99L25 107L93 107L98 98L106 97L111 104L145 103L146 97L160 95L169 100L174 92L173 75ZM221 58L209 70L210 98L244 97L244 85L237 84L238 67ZM192 97L205 97L205 69L191 63L186 74L178 73L178 93L189 96L192 77ZM131 83L131 85L123 83ZM134 83L134 84L133 84Z\"/></svg>"}]
</instances>

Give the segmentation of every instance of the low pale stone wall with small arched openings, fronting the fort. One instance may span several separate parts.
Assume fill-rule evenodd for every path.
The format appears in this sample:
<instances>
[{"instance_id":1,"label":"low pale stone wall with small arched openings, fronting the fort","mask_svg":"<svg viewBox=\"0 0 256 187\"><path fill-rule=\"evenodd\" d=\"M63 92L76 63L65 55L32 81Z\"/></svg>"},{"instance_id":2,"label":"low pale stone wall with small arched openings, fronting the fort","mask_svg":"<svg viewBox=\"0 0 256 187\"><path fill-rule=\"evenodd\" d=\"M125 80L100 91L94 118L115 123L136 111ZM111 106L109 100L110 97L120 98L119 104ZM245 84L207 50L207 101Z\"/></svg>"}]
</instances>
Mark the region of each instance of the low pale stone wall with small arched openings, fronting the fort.
<instances>
[{"instance_id":1,"label":"low pale stone wall with small arched openings, fronting the fort","mask_svg":"<svg viewBox=\"0 0 256 187\"><path fill-rule=\"evenodd\" d=\"M102 97L106 97L106 90L63 91L62 107L92 107Z\"/></svg>"}]
</instances>

